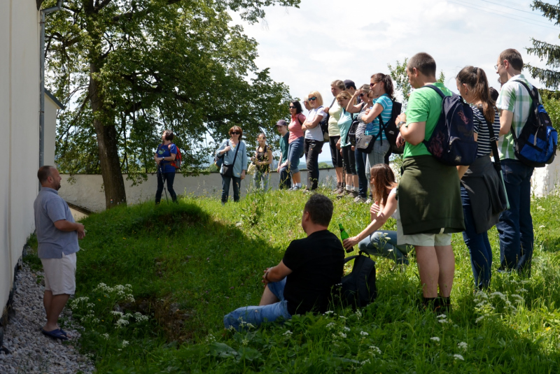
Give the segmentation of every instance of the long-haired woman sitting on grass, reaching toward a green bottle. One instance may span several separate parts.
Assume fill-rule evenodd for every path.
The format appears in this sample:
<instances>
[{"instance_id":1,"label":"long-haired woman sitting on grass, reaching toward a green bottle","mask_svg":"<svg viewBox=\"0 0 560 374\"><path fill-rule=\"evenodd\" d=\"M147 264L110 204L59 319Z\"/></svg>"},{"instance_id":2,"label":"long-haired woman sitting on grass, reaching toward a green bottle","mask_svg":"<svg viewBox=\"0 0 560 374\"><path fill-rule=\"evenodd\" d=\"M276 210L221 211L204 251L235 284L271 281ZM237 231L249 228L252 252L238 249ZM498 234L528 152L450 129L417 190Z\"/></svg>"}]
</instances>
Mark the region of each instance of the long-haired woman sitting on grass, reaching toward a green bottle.
<instances>
[{"instance_id":1,"label":"long-haired woman sitting on grass, reaching toward a green bottle","mask_svg":"<svg viewBox=\"0 0 560 374\"><path fill-rule=\"evenodd\" d=\"M397 183L395 174L387 164L377 164L370 171L373 201L370 208L371 222L362 232L344 240L344 248L358 244L361 251L374 256L394 259L397 264L408 265L407 245L398 245L397 232L379 230L393 216L398 222ZM400 224L398 224L400 226Z\"/></svg>"}]
</instances>

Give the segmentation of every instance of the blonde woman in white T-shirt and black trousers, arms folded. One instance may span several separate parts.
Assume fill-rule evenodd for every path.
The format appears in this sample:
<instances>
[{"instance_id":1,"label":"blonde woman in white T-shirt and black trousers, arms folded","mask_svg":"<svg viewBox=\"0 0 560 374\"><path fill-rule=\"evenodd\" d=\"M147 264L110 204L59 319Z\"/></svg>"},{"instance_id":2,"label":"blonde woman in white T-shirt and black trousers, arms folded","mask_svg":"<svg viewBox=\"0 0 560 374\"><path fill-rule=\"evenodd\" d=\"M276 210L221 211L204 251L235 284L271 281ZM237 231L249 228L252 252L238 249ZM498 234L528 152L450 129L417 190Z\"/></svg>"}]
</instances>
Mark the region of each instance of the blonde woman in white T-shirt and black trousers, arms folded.
<instances>
[{"instance_id":1,"label":"blonde woman in white T-shirt and black trousers, arms folded","mask_svg":"<svg viewBox=\"0 0 560 374\"><path fill-rule=\"evenodd\" d=\"M302 125L302 130L305 131L304 140L304 154L307 164L307 187L304 192L310 192L317 189L319 180L319 153L323 150L323 130L319 122L327 116L323 110L323 97L317 91L309 92L307 95L309 99L309 115Z\"/></svg>"}]
</instances>

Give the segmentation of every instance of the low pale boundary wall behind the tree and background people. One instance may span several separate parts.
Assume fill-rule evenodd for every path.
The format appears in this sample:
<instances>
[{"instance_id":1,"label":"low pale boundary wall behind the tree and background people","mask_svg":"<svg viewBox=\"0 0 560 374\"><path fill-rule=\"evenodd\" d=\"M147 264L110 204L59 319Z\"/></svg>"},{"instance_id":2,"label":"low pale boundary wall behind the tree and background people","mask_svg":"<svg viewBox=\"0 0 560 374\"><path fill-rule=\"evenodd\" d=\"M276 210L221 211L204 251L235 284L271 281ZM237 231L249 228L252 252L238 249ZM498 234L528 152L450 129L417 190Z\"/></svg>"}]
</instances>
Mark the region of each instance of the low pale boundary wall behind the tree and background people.
<instances>
[{"instance_id":1,"label":"low pale boundary wall behind the tree and background people","mask_svg":"<svg viewBox=\"0 0 560 374\"><path fill-rule=\"evenodd\" d=\"M302 182L305 184L307 180L307 171L302 171ZM69 182L70 178L70 182ZM132 186L132 182L127 180L127 174L123 175L125 178L125 189L127 192L128 203L139 203L154 198L155 189L158 185L158 180L155 174L148 174L148 180L141 183L141 185ZM247 193L249 188L249 178L241 181L241 196ZM271 174L271 187L278 189L279 175L278 173ZM323 185L335 186L336 177L335 169L321 169L319 172L319 183ZM194 194L200 195L214 195L221 196L222 192L222 178L219 173L210 173L209 175L199 175L197 177L183 177L177 174L174 182L174 189L177 194ZM102 176L97 174L75 174L75 175L62 175L61 188L59 195L67 202L86 208L93 212L100 212L105 210L105 194L103 191ZM230 187L230 199L232 199L233 189ZM165 192L162 196L165 201Z\"/></svg>"}]
</instances>

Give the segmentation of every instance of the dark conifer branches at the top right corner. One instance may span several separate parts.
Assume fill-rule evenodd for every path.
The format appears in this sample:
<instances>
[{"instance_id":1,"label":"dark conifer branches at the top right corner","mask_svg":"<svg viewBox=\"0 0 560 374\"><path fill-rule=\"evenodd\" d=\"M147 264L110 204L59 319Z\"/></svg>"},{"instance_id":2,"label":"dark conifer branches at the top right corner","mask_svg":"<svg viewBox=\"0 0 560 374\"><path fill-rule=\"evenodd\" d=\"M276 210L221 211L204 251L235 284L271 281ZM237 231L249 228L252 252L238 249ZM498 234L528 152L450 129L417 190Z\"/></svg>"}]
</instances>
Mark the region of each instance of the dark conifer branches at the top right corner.
<instances>
[{"instance_id":1,"label":"dark conifer branches at the top right corner","mask_svg":"<svg viewBox=\"0 0 560 374\"><path fill-rule=\"evenodd\" d=\"M553 21L554 24L560 24L560 6L545 3L544 1L535 0L531 5L533 10L540 10L542 16L548 18L549 21ZM529 55L534 55L546 61L547 66L552 69L540 69L531 64L527 64L526 67L531 73L531 77L537 78L541 82L545 83L546 87L556 89L560 84L560 71L558 69L560 66L560 46L555 44L550 44L545 41L538 41L535 38L531 38L533 43L533 48L527 48Z\"/></svg>"}]
</instances>

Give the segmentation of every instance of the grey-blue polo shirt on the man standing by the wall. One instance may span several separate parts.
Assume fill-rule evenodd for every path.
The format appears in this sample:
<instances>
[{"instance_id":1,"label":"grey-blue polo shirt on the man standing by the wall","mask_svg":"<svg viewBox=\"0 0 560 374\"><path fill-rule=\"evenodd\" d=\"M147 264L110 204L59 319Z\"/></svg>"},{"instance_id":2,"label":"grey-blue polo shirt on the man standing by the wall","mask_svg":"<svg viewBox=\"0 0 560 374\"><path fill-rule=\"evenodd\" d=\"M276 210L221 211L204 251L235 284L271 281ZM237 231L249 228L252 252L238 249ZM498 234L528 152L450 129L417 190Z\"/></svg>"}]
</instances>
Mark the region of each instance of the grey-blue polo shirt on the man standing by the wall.
<instances>
[{"instance_id":1,"label":"grey-blue polo shirt on the man standing by the wall","mask_svg":"<svg viewBox=\"0 0 560 374\"><path fill-rule=\"evenodd\" d=\"M39 258L61 259L63 253L67 256L80 250L76 231L60 231L55 226L55 222L59 220L76 222L68 204L58 196L56 189L41 187L41 191L33 203L33 208Z\"/></svg>"}]
</instances>

